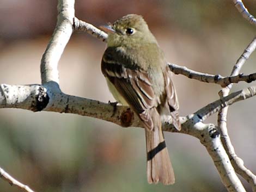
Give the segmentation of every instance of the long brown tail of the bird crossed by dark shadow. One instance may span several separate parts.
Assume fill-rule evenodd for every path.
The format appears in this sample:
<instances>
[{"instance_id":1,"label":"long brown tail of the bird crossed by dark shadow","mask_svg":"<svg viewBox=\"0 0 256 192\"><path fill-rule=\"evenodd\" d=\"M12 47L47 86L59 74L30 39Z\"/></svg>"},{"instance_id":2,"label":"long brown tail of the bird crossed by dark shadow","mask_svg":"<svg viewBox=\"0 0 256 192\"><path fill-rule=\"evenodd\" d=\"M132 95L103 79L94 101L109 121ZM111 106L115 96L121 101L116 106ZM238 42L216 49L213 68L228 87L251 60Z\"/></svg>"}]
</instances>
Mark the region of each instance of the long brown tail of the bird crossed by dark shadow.
<instances>
[{"instance_id":1,"label":"long brown tail of the bird crossed by dark shadow","mask_svg":"<svg viewBox=\"0 0 256 192\"><path fill-rule=\"evenodd\" d=\"M162 182L165 185L173 184L175 181L174 172L163 138L161 117L158 113L153 117L153 131L145 128L148 182L150 184L158 182Z\"/></svg>"}]
</instances>

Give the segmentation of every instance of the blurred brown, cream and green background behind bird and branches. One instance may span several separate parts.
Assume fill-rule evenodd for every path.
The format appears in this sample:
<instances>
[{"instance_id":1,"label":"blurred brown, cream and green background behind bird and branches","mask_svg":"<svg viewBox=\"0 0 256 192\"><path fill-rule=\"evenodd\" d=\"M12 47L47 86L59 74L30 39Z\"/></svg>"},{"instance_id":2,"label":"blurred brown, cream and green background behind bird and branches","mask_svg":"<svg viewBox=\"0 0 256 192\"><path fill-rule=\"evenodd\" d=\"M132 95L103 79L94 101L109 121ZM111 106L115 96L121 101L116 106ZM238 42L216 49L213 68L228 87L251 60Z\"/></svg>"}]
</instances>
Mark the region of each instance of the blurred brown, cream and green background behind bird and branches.
<instances>
[{"instance_id":1,"label":"blurred brown, cream and green background behind bird and branches","mask_svg":"<svg viewBox=\"0 0 256 192\"><path fill-rule=\"evenodd\" d=\"M243 1L256 15L256 2ZM232 1L79 0L76 16L100 26L143 15L169 62L227 76L255 35ZM40 59L56 24L57 1L0 0L0 83L40 84ZM66 94L114 101L100 71L105 43L75 33L59 62ZM256 54L242 68L255 72ZM173 76L180 114L218 99L220 86ZM254 84L254 83L252 83ZM232 91L245 88L234 85ZM236 153L256 172L255 97L229 108L228 128ZM216 123L216 115L207 122ZM120 128L90 117L0 109L0 167L35 191L227 191L199 140L165 133L176 183L149 185L143 129ZM248 187L245 181L248 191ZM0 179L0 191L20 191Z\"/></svg>"}]
</instances>

